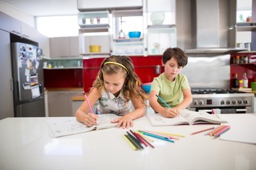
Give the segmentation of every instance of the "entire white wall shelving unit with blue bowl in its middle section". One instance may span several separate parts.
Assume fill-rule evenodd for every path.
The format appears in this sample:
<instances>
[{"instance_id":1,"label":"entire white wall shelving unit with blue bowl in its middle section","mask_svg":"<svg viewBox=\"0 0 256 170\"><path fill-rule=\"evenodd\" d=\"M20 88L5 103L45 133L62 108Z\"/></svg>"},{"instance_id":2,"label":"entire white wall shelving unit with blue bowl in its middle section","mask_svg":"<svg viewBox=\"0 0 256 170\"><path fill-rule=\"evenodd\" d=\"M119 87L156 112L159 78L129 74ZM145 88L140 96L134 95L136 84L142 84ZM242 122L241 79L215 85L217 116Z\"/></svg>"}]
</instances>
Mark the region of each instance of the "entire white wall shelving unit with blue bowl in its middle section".
<instances>
[{"instance_id":1,"label":"entire white wall shelving unit with blue bowl in its middle section","mask_svg":"<svg viewBox=\"0 0 256 170\"><path fill-rule=\"evenodd\" d=\"M78 10L81 55L161 55L177 46L175 0L78 0Z\"/></svg>"}]
</instances>

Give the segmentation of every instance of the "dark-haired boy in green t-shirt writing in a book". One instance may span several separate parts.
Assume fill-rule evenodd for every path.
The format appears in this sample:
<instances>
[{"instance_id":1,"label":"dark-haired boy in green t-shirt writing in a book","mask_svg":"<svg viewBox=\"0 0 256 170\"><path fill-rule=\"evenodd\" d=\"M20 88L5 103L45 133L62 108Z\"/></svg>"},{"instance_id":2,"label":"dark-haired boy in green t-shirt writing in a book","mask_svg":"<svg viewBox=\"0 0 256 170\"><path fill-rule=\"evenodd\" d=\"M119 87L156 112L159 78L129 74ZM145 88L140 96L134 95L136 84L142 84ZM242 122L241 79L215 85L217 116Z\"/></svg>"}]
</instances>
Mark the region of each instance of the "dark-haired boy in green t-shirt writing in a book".
<instances>
[{"instance_id":1,"label":"dark-haired boy in green t-shirt writing in a book","mask_svg":"<svg viewBox=\"0 0 256 170\"><path fill-rule=\"evenodd\" d=\"M154 78L149 94L149 105L160 115L174 118L192 102L191 88L181 69L188 63L185 52L178 47L168 48L162 57L164 73ZM157 96L167 103L166 106Z\"/></svg>"}]
</instances>

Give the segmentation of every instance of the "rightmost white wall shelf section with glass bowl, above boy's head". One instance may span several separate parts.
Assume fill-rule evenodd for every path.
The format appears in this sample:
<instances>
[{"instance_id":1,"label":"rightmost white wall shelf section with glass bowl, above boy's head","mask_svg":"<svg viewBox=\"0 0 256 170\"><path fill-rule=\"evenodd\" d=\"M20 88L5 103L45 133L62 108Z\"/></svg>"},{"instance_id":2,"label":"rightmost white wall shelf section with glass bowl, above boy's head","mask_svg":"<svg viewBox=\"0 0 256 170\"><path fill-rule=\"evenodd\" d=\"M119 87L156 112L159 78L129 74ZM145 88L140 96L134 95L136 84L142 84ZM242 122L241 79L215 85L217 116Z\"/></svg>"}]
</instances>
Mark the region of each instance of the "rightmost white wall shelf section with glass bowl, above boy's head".
<instances>
[{"instance_id":1,"label":"rightmost white wall shelf section with glass bowl, above boy's head","mask_svg":"<svg viewBox=\"0 0 256 170\"><path fill-rule=\"evenodd\" d=\"M168 47L177 46L176 1L146 1L147 54L161 55ZM164 6L162 5L164 4Z\"/></svg>"}]
</instances>

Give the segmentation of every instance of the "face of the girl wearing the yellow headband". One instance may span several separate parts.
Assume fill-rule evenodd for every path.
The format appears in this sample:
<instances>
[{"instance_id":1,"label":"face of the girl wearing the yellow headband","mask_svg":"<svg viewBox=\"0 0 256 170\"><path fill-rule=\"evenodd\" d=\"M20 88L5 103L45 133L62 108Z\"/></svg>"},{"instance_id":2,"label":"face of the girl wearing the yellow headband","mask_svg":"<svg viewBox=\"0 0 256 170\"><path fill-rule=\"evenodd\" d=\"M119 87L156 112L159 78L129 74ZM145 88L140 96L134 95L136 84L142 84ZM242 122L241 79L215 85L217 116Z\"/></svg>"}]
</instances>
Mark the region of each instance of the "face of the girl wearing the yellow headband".
<instances>
[{"instance_id":1,"label":"face of the girl wearing the yellow headband","mask_svg":"<svg viewBox=\"0 0 256 170\"><path fill-rule=\"evenodd\" d=\"M105 74L103 72L103 81L107 91L117 97L124 86L124 73L119 72L116 74Z\"/></svg>"}]
</instances>

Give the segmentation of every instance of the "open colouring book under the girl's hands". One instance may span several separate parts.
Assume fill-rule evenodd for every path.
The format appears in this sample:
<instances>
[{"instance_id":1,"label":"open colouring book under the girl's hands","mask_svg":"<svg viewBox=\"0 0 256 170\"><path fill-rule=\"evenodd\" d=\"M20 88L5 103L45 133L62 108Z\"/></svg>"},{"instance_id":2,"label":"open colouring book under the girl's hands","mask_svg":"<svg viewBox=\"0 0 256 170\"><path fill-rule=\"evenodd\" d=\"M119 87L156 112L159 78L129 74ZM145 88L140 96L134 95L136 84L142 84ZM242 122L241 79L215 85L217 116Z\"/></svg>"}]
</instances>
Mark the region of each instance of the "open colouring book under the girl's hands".
<instances>
[{"instance_id":1,"label":"open colouring book under the girl's hands","mask_svg":"<svg viewBox=\"0 0 256 170\"><path fill-rule=\"evenodd\" d=\"M73 135L81 132L89 132L91 130L100 130L107 128L114 128L117 123L111 123L112 120L120 118L114 114L102 114L97 118L97 125L87 127L85 124L78 122L75 117L68 119L55 120L54 122L48 122L50 132L54 137L60 137L65 135Z\"/></svg>"}]
</instances>

